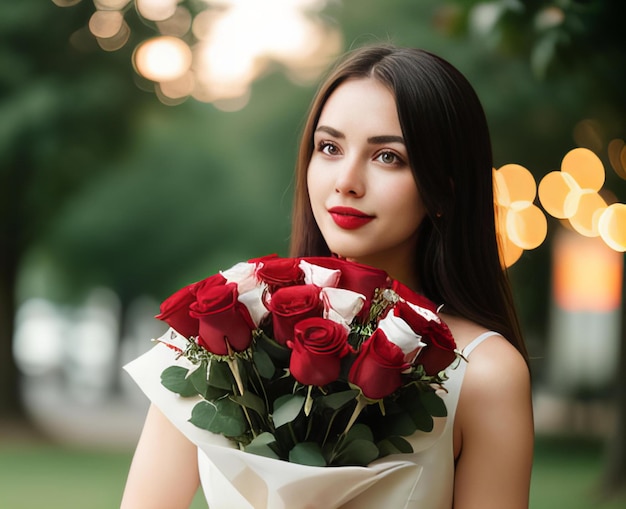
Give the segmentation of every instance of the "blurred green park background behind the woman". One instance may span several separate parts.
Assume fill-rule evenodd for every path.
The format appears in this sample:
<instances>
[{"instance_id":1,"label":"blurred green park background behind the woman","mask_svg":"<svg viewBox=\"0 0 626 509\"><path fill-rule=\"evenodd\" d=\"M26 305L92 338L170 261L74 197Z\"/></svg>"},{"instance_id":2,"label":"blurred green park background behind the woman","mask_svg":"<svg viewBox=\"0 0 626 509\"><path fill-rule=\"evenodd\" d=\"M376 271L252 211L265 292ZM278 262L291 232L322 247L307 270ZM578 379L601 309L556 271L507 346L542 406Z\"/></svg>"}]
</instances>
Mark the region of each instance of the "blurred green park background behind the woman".
<instances>
[{"instance_id":1,"label":"blurred green park background behind the woman","mask_svg":"<svg viewBox=\"0 0 626 509\"><path fill-rule=\"evenodd\" d=\"M265 56L226 99L168 97L140 75L135 50L161 30L150 3L0 5L2 508L118 505L147 409L121 366L163 331L152 316L174 290L287 254L298 134L324 64L350 47L443 56L481 97L496 168L539 183L583 147L607 204L626 201L623 2L180 1L190 16L283 20L272 33L292 49L302 18L283 15L300 7L323 35L304 62ZM121 14L121 42L94 36L97 10ZM237 30L259 45L254 24ZM531 507L625 507L624 256L546 218L545 241L511 268L535 382ZM564 287L563 246L584 257Z\"/></svg>"}]
</instances>

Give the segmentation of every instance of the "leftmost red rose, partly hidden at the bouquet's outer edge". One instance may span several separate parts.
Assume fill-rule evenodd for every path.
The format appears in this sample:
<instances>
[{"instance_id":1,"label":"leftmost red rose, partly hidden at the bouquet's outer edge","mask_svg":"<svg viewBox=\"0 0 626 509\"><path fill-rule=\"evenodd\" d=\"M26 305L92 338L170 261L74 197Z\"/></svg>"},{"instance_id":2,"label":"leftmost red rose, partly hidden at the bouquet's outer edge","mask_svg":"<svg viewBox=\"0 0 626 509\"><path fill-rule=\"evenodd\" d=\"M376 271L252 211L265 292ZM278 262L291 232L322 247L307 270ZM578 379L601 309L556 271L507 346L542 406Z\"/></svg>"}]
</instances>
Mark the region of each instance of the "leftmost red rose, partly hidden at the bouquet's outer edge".
<instances>
[{"instance_id":1,"label":"leftmost red rose, partly hidden at the bouquet's outer edge","mask_svg":"<svg viewBox=\"0 0 626 509\"><path fill-rule=\"evenodd\" d=\"M170 295L161 303L157 320L167 323L181 336L189 338L198 335L198 320L189 315L189 306L196 300L196 292L201 286L223 285L226 280L215 274L207 279L185 286Z\"/></svg>"}]
</instances>

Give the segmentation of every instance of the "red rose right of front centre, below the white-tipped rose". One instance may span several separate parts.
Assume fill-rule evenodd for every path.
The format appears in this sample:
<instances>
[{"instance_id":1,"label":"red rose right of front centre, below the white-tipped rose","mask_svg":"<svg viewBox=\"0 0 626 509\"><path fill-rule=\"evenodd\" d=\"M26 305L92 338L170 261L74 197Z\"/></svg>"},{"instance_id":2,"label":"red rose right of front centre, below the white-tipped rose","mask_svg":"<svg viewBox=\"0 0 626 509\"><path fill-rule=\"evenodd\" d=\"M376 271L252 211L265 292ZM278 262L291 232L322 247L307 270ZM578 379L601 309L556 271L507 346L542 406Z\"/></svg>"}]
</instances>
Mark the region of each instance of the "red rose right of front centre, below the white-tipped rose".
<instances>
[{"instance_id":1,"label":"red rose right of front centre, below the white-tipped rose","mask_svg":"<svg viewBox=\"0 0 626 509\"><path fill-rule=\"evenodd\" d=\"M400 347L376 329L361 345L348 380L358 386L366 398L382 399L402 385L401 373L408 367Z\"/></svg>"}]
</instances>

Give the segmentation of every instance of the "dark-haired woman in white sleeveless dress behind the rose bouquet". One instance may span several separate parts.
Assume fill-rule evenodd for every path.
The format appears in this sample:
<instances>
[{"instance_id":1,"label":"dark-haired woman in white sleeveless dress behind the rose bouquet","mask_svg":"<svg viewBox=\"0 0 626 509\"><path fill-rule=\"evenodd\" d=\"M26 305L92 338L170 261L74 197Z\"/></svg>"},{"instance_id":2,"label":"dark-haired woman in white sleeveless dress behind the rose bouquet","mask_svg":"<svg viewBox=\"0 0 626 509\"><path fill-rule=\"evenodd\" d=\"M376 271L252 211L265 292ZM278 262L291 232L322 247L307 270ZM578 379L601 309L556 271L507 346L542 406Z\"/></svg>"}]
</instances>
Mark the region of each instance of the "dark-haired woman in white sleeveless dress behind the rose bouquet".
<instances>
[{"instance_id":1,"label":"dark-haired woman in white sleeveless dress behind the rose bouquet","mask_svg":"<svg viewBox=\"0 0 626 509\"><path fill-rule=\"evenodd\" d=\"M498 257L488 129L469 83L424 51L354 51L313 102L296 178L291 254L384 269L443 304L469 360L451 374L448 423L419 455L414 493L394 504L528 507L527 354ZM122 507L188 507L196 454L151 407Z\"/></svg>"}]
</instances>

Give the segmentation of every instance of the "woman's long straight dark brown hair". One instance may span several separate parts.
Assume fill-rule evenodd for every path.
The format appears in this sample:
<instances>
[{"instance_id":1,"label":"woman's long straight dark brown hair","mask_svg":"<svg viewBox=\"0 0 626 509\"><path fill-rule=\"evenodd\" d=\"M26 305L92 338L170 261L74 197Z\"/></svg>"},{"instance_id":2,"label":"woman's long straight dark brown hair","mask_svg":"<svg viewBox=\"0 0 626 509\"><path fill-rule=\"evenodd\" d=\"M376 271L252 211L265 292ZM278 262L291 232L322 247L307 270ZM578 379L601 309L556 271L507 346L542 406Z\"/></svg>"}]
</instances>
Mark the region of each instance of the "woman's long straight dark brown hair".
<instances>
[{"instance_id":1,"label":"woman's long straight dark brown hair","mask_svg":"<svg viewBox=\"0 0 626 509\"><path fill-rule=\"evenodd\" d=\"M296 167L291 255L330 255L311 210L306 173L313 132L333 91L373 78L393 93L409 163L428 216L418 234L420 290L445 309L506 337L528 359L495 231L487 121L467 79L424 50L354 50L322 83L302 134Z\"/></svg>"}]
</instances>

